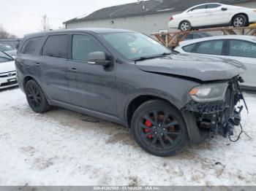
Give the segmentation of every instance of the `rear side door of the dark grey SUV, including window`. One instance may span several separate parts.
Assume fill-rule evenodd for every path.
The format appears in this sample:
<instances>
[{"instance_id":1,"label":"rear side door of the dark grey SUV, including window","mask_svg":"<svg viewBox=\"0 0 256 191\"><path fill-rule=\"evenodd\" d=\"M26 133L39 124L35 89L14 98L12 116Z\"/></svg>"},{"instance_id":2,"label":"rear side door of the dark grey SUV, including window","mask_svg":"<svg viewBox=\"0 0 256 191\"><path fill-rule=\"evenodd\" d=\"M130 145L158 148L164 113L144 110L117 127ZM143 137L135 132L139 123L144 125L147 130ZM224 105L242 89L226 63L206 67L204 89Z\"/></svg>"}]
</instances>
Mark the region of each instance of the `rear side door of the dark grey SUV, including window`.
<instances>
[{"instance_id":1,"label":"rear side door of the dark grey SUV, including window","mask_svg":"<svg viewBox=\"0 0 256 191\"><path fill-rule=\"evenodd\" d=\"M66 33L50 34L40 50L37 62L40 80L48 98L69 103L67 84L67 53L69 36Z\"/></svg>"}]
</instances>

